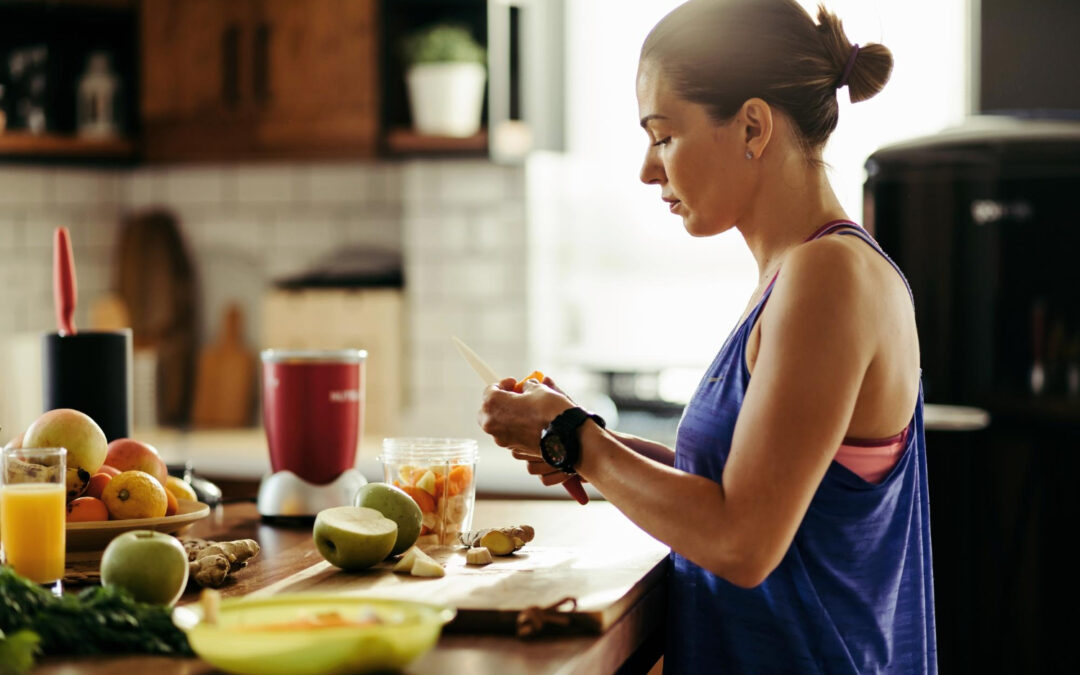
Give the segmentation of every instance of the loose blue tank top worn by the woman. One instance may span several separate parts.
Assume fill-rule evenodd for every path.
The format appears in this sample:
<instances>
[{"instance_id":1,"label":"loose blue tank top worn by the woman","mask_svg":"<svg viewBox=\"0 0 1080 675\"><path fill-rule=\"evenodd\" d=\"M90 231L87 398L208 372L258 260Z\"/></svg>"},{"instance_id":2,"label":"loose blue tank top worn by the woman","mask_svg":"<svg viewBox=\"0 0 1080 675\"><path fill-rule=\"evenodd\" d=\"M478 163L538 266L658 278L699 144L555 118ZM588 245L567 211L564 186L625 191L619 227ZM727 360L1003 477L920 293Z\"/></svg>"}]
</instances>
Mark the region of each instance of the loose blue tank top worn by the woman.
<instances>
[{"instance_id":1,"label":"loose blue tank top worn by the woman","mask_svg":"<svg viewBox=\"0 0 1080 675\"><path fill-rule=\"evenodd\" d=\"M827 224L810 239L832 232L859 237L896 268L854 224ZM746 340L771 293L772 284L687 405L676 469L720 482L750 384ZM674 551L669 580L665 673L936 673L921 383L896 465L873 484L833 461L760 585L742 589Z\"/></svg>"}]
</instances>

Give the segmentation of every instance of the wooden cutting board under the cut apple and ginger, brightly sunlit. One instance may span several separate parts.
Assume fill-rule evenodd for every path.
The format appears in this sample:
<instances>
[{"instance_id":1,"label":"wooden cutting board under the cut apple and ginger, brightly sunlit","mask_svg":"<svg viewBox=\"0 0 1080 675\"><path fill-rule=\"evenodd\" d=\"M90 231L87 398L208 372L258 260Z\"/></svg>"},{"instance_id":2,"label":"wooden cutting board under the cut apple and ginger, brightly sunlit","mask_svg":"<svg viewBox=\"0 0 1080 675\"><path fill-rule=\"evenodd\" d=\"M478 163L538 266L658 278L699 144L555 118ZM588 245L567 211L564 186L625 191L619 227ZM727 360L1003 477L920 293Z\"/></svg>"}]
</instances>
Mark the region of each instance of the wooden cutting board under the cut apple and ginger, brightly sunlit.
<instances>
[{"instance_id":1,"label":"wooden cutting board under the cut apple and ginger, brightly sunlit","mask_svg":"<svg viewBox=\"0 0 1080 675\"><path fill-rule=\"evenodd\" d=\"M483 505L476 527L521 519L513 502ZM611 517L615 508L607 502L566 502L555 511L564 517L532 524L532 542L487 566L465 565L463 549L438 546L427 551L445 566L441 579L395 575L392 563L345 572L320 562L254 595L318 592L442 603L458 609L451 630L496 633L513 633L524 610L572 597L577 607L561 612L568 623L557 632L603 633L660 583L669 549L618 513Z\"/></svg>"}]
</instances>

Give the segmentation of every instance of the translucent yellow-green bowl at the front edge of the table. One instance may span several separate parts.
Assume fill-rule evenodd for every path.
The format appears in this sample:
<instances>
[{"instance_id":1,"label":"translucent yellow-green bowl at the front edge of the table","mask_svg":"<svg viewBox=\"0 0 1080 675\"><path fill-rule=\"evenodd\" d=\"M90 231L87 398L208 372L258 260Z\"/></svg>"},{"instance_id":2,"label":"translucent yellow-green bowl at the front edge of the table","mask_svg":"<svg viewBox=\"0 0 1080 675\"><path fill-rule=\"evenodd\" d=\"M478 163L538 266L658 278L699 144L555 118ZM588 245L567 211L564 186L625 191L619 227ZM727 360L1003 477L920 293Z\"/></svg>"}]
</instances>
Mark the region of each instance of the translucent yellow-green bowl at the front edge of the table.
<instances>
[{"instance_id":1,"label":"translucent yellow-green bowl at the front edge of the table","mask_svg":"<svg viewBox=\"0 0 1080 675\"><path fill-rule=\"evenodd\" d=\"M379 623L281 630L335 612L343 618L374 616ZM403 669L435 646L455 613L450 607L407 600L294 593L221 600L216 624L203 621L197 604L177 607L173 622L187 633L200 658L222 671L327 675Z\"/></svg>"}]
</instances>

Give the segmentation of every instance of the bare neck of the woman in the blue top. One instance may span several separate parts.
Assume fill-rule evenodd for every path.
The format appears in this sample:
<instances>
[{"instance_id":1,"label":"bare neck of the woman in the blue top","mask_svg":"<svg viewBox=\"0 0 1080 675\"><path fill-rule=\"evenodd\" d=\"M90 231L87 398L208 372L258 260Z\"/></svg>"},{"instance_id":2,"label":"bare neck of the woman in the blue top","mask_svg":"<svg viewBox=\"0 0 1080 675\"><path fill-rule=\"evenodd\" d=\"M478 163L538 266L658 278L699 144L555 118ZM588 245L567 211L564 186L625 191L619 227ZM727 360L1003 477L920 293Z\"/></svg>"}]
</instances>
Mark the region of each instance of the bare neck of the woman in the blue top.
<instances>
[{"instance_id":1,"label":"bare neck of the woman in the blue top","mask_svg":"<svg viewBox=\"0 0 1080 675\"><path fill-rule=\"evenodd\" d=\"M778 157L783 154L783 157ZM787 253L822 225L848 218L820 163L801 150L766 153L752 208L738 224L761 283L767 283Z\"/></svg>"}]
</instances>

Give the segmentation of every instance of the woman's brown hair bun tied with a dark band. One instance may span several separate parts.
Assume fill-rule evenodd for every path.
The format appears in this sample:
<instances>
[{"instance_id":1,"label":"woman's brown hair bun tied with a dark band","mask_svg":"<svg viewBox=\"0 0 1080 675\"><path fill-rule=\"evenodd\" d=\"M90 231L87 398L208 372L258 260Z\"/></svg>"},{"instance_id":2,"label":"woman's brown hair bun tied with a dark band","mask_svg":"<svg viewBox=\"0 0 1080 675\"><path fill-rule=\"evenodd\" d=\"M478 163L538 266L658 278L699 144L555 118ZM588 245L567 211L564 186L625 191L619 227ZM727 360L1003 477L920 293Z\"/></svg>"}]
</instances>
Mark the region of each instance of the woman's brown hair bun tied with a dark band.
<instances>
[{"instance_id":1,"label":"woman's brown hair bun tied with a dark band","mask_svg":"<svg viewBox=\"0 0 1080 675\"><path fill-rule=\"evenodd\" d=\"M836 86L848 87L851 103L866 100L881 91L892 75L889 48L876 42L862 46L852 44L843 32L842 22L824 4L818 5L818 30L833 66Z\"/></svg>"}]
</instances>

